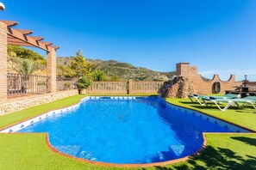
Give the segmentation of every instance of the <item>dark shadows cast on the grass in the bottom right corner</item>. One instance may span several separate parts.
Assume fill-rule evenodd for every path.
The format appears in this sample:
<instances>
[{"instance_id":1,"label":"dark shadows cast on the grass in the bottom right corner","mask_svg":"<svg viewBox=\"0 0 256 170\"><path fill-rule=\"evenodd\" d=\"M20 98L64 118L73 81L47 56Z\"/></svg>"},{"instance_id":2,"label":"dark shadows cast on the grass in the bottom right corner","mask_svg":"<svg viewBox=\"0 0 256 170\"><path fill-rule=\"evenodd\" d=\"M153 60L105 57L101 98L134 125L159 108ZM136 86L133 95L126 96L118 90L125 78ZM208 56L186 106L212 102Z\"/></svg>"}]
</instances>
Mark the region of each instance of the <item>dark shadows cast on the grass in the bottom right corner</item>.
<instances>
[{"instance_id":1,"label":"dark shadows cast on the grass in the bottom right corner","mask_svg":"<svg viewBox=\"0 0 256 170\"><path fill-rule=\"evenodd\" d=\"M247 137L245 137L247 138ZM255 143L255 141L245 140L247 143ZM249 142L248 142L249 140ZM253 170L256 167L256 157L246 155L241 157L230 149L206 147L203 153L197 157L191 158L189 161L180 163L180 165L173 165L169 167L154 167L157 170L166 169L247 169Z\"/></svg>"}]
</instances>

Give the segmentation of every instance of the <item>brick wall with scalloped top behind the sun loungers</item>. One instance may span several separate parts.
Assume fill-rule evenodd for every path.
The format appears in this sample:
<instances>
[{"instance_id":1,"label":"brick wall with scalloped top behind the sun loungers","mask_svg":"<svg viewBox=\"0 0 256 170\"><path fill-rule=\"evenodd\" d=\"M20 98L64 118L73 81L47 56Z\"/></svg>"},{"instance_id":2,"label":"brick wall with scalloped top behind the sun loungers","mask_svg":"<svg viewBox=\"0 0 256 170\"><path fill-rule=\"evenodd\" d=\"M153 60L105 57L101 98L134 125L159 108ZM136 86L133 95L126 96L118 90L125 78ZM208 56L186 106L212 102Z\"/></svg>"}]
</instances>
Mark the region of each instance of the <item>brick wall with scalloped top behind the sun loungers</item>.
<instances>
[{"instance_id":1,"label":"brick wall with scalloped top behind the sun loungers","mask_svg":"<svg viewBox=\"0 0 256 170\"><path fill-rule=\"evenodd\" d=\"M234 75L231 75L228 81L222 81L218 75L214 75L210 81L204 81L203 76L197 73L197 67L191 67L189 63L176 64L176 73L178 76L190 79L198 94L211 94L214 82L221 83L221 93L225 93L225 90L232 90L234 86L242 84L242 82L235 82Z\"/></svg>"}]
</instances>

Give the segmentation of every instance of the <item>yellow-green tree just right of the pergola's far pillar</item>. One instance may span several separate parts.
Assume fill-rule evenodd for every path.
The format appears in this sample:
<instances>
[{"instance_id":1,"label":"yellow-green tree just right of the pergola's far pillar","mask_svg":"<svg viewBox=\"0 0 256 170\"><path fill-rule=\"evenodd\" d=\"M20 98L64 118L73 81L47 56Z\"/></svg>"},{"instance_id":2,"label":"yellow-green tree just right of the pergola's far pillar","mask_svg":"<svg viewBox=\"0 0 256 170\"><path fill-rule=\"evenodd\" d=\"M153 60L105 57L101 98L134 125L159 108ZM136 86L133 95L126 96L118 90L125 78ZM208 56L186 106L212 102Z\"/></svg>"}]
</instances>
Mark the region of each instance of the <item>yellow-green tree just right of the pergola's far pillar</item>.
<instances>
[{"instance_id":1,"label":"yellow-green tree just right of the pergola's far pillar","mask_svg":"<svg viewBox=\"0 0 256 170\"><path fill-rule=\"evenodd\" d=\"M77 56L72 59L71 64L68 64L68 66L66 67L66 76L70 76L70 77L89 76L89 74L91 73L91 67L94 64L87 63L80 50L78 50L76 54Z\"/></svg>"}]
</instances>

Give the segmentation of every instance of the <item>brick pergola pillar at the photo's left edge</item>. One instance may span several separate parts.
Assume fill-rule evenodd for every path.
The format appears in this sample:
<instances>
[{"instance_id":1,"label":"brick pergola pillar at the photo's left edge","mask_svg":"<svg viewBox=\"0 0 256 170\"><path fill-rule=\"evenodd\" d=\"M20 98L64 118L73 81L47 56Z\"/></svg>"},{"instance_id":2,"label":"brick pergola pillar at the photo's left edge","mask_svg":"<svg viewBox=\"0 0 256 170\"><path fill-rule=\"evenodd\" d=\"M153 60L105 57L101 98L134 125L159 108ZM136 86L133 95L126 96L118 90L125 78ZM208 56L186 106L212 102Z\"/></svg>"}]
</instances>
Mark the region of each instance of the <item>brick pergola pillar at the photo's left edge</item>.
<instances>
[{"instance_id":1,"label":"brick pergola pillar at the photo's left edge","mask_svg":"<svg viewBox=\"0 0 256 170\"><path fill-rule=\"evenodd\" d=\"M7 25L0 21L0 103L7 100Z\"/></svg>"}]
</instances>

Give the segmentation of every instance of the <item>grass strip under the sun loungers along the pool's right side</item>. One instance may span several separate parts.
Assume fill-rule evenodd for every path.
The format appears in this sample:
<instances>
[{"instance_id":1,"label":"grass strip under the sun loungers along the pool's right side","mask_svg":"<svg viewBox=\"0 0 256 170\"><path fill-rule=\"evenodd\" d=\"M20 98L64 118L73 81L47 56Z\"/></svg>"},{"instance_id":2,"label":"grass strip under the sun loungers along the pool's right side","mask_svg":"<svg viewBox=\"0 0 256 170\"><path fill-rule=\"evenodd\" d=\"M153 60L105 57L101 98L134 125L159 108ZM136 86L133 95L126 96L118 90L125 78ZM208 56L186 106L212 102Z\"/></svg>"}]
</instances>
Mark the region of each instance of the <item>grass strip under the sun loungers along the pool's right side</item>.
<instances>
[{"instance_id":1,"label":"grass strip under the sun loungers along the pool's right side","mask_svg":"<svg viewBox=\"0 0 256 170\"><path fill-rule=\"evenodd\" d=\"M207 113L217 118L222 118L228 122L239 124L253 131L256 131L256 109L253 106L245 106L245 108L238 108L237 106L230 106L227 111L220 111L217 106L201 106L198 103L193 103L189 99L171 99L166 101L171 104L184 106L200 112Z\"/></svg>"}]
</instances>

